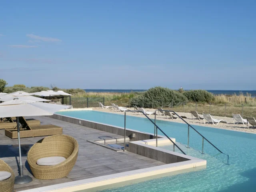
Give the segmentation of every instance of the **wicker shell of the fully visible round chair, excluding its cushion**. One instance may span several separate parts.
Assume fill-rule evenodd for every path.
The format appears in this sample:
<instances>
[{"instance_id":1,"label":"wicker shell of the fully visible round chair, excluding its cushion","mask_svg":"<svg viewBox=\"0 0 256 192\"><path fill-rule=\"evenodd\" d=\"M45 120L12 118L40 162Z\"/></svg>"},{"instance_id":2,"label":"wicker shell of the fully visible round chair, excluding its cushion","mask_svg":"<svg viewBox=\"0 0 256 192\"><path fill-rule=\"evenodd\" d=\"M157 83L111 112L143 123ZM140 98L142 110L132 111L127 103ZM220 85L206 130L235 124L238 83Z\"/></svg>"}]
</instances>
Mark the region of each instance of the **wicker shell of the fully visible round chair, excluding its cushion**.
<instances>
[{"instance_id":1,"label":"wicker shell of the fully visible round chair, excluding its cushion","mask_svg":"<svg viewBox=\"0 0 256 192\"><path fill-rule=\"evenodd\" d=\"M40 158L62 156L66 158L54 166L40 166ZM28 164L33 176L38 179L57 179L67 176L72 170L78 156L78 143L68 135L52 135L39 140L28 152Z\"/></svg>"}]
</instances>

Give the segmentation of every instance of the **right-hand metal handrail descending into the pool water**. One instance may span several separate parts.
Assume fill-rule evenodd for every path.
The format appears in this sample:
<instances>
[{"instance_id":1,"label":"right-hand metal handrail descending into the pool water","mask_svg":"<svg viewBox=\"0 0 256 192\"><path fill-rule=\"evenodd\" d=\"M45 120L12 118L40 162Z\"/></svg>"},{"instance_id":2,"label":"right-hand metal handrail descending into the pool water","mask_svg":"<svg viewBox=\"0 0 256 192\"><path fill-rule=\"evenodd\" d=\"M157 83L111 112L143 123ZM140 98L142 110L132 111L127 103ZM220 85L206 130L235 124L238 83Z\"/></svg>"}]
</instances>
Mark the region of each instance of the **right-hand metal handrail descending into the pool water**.
<instances>
[{"instance_id":1,"label":"right-hand metal handrail descending into the pool water","mask_svg":"<svg viewBox=\"0 0 256 192\"><path fill-rule=\"evenodd\" d=\"M176 112L171 111L171 110L159 110L156 109L155 110L155 123L156 123L156 111L168 111L168 112L172 112L174 114L176 114L183 122L185 122L188 125L188 146L187 148L189 148L189 127L191 127L194 131L196 131L200 136L202 136L202 154L204 154L204 140L206 140L209 144L211 144L214 148L216 148L216 150L218 150L220 153L226 155L228 157L228 162L229 162L229 155L226 153L223 153L221 150L219 150L214 144L212 144L208 139L206 139L202 134L200 134L194 127L192 127L188 122L186 122L181 116L179 116ZM157 146L157 129L158 127L156 126L156 146Z\"/></svg>"}]
</instances>

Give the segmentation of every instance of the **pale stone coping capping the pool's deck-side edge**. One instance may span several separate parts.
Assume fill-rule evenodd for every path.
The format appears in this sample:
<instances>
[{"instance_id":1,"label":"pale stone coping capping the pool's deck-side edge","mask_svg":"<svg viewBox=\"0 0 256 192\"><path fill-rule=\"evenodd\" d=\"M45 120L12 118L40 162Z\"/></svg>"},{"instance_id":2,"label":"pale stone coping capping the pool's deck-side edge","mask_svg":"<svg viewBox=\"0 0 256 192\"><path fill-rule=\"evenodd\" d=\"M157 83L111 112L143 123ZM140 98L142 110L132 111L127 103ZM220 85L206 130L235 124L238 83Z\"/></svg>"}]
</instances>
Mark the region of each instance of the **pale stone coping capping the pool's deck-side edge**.
<instances>
[{"instance_id":1,"label":"pale stone coping capping the pool's deck-side edge","mask_svg":"<svg viewBox=\"0 0 256 192\"><path fill-rule=\"evenodd\" d=\"M55 115L63 116L63 115L60 115L60 114L55 114ZM92 121L89 121L89 120L74 118L74 117L70 117L70 116L64 116L64 117L72 118L72 119L75 119L75 120L78 120L78 121L92 122ZM54 118L54 116L52 116L52 118ZM93 123L103 124L103 123L99 123L99 122L93 122ZM112 126L112 125L109 125L109 124L103 124L103 125ZM118 127L118 126L113 126L113 127L121 128L121 129L124 130L124 128L122 128L122 127ZM132 130L132 129L126 129L126 131L127 130L130 130L130 131L133 131L133 132L140 132L140 131ZM150 133L146 133L146 132L141 132L141 133L150 134ZM152 134L150 134L150 135L152 135ZM159 144L164 143L164 142L169 142L170 143L168 138L166 138L165 136L159 136L158 141L159 141ZM199 159L199 158L195 158L195 157L192 157L192 156L180 154L178 152L173 152L173 151L170 151L170 150L166 150L166 149L163 149L163 148L158 148L158 147L155 147L153 145L150 145L150 144L154 144L155 142L156 142L156 139L130 141L129 142L129 147L130 147L130 144L131 145L136 145L136 146L140 146L140 147L143 147L143 148L147 148L148 150L154 150L154 151L158 151L158 152L161 152L161 153L164 153L164 154L169 154L171 156L177 156L177 157L180 157L180 158L185 158L185 159L188 159L188 160L184 160L184 161L181 161L181 162L174 162L174 163L164 164L164 165L160 165L160 166L154 166L154 167L150 167L150 168L143 168L143 169L139 169L139 170L121 172L121 173L117 173L117 174L110 174L110 175L106 175L106 176L99 176L99 177L94 177L94 178L78 180L78 181L72 181L72 182L66 182L66 183L55 184L55 185L50 185L50 186L44 186L44 187L34 188L34 189L29 189L29 190L22 190L21 192L63 192L63 191L65 191L65 192L74 192L74 191L78 191L78 190L85 190L85 189L89 189L89 188L105 186L105 185L114 184L114 183L120 183L120 182L124 182L124 181L128 181L128 180L135 180L135 179L139 179L139 178L164 174L164 173L168 173L168 172L186 170L186 169L189 169L189 168L193 168L193 170L195 170L196 167L206 166L206 160L202 160L202 159ZM168 156L166 156L166 157L168 157Z\"/></svg>"}]
</instances>

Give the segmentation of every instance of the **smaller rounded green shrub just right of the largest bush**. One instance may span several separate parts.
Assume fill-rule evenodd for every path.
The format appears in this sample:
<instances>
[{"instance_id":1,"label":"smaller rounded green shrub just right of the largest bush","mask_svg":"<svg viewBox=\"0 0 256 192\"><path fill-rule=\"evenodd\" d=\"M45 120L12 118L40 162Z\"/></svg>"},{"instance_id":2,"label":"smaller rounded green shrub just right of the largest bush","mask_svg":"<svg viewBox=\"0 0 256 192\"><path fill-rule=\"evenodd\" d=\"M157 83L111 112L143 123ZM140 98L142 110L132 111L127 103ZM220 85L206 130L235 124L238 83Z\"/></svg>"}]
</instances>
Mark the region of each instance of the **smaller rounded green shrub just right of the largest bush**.
<instances>
[{"instance_id":1,"label":"smaller rounded green shrub just right of the largest bush","mask_svg":"<svg viewBox=\"0 0 256 192\"><path fill-rule=\"evenodd\" d=\"M213 94L206 90L189 90L183 94L189 101L193 102L211 102L214 99Z\"/></svg>"}]
</instances>

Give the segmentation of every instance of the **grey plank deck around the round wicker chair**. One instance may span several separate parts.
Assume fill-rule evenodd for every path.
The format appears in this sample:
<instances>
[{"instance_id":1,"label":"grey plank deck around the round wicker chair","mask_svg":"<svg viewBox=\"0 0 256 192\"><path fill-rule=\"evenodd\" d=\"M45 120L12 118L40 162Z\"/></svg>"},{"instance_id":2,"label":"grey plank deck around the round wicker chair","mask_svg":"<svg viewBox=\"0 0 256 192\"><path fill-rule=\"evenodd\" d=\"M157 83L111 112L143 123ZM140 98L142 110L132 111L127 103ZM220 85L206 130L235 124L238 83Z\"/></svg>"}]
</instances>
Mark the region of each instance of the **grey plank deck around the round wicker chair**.
<instances>
[{"instance_id":1,"label":"grey plank deck around the round wicker chair","mask_svg":"<svg viewBox=\"0 0 256 192\"><path fill-rule=\"evenodd\" d=\"M100 140L100 138L103 138L104 136L121 138L122 136L120 135L47 117L32 118L40 120L41 124L53 124L56 126L61 126L63 128L63 134L74 137L79 144L78 159L74 168L67 177L54 180L36 179L32 176L28 162L26 161L27 153L34 143L44 137L21 138L24 175L32 176L33 181L28 184L14 185L14 189L16 191L138 170L164 164L162 162L158 162L131 152L116 152L114 150L87 142L87 140ZM8 163L9 166L11 166L11 168L14 170L15 175L18 176L18 139L8 138L4 135L4 130L0 130L0 159Z\"/></svg>"}]
</instances>

